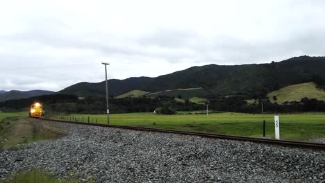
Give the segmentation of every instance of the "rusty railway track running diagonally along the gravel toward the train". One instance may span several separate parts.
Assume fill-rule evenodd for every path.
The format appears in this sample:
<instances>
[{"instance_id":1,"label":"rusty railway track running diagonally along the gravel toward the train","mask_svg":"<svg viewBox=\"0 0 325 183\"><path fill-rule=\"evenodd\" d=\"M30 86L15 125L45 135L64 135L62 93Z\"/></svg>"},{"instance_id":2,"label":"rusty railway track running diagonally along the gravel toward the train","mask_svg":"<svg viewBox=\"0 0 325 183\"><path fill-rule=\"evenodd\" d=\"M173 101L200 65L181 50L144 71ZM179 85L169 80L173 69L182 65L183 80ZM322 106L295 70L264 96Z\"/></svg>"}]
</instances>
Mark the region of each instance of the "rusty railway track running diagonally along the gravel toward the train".
<instances>
[{"instance_id":1,"label":"rusty railway track running diagonally along the gravel toward the train","mask_svg":"<svg viewBox=\"0 0 325 183\"><path fill-rule=\"evenodd\" d=\"M173 134L184 134L184 135L194 135L199 137L206 137L210 139L228 139L235 141L251 141L255 143L269 143L276 144L280 146L294 146L299 148L317 148L325 150L325 143L312 143L305 141L286 141L286 140L277 140L277 139L262 139L262 138L254 138L254 137L240 137L228 134L211 134L211 133L202 133L202 132L187 132L181 130L164 130L157 128L142 128L142 127L134 127L134 126L125 126L125 125L106 125L106 124L98 124L98 123L84 123L84 122L75 122L75 121L63 121L58 119L42 119L36 118L44 121L56 121L60 123L74 123L79 125L92 125L92 126L101 126L101 127L109 127L109 128L121 128L127 130L140 130L147 132L164 132L164 133L173 133Z\"/></svg>"}]
</instances>

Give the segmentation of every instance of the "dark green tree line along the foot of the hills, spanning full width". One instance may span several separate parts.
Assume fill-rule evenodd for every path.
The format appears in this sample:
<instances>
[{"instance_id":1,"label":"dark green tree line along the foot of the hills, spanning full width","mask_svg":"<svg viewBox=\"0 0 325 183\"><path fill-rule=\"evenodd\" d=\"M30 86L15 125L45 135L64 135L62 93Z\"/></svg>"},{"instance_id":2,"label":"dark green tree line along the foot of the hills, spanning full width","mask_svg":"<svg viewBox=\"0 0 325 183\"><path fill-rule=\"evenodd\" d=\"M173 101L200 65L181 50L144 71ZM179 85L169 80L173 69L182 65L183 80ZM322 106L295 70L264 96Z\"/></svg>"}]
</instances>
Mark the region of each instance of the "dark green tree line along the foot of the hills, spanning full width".
<instances>
[{"instance_id":1,"label":"dark green tree line along the foot of the hills, spanning full width","mask_svg":"<svg viewBox=\"0 0 325 183\"><path fill-rule=\"evenodd\" d=\"M244 96L210 98L206 104L185 103L175 101L172 96L157 96L155 98L110 98L111 113L154 112L175 114L176 111L205 110L206 105L213 111L260 113L261 103L265 112L325 112L325 102L315 98L302 98L301 101L271 103L268 98L258 99L256 103L248 104ZM35 102L43 104L47 112L104 114L106 112L105 98L84 98L68 94L51 94L3 101L0 111L18 112L27 111Z\"/></svg>"}]
</instances>

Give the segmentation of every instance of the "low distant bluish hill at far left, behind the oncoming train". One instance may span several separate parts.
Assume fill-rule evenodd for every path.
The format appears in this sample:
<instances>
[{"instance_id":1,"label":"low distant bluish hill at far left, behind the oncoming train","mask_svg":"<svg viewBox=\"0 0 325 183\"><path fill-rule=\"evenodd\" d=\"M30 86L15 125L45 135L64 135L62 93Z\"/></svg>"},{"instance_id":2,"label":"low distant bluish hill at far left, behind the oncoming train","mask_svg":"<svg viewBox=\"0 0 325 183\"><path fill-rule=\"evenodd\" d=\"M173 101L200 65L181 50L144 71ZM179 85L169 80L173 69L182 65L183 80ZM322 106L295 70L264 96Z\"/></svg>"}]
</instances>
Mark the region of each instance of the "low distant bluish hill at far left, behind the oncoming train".
<instances>
[{"instance_id":1,"label":"low distant bluish hill at far left, behind the oncoming train","mask_svg":"<svg viewBox=\"0 0 325 183\"><path fill-rule=\"evenodd\" d=\"M9 92L0 94L0 101L7 101L10 99L19 99L19 98L28 98L32 96L41 96L41 95L48 95L53 94L54 92L47 91L47 90L31 90L31 91L18 91L18 90L11 90Z\"/></svg>"}]
</instances>

